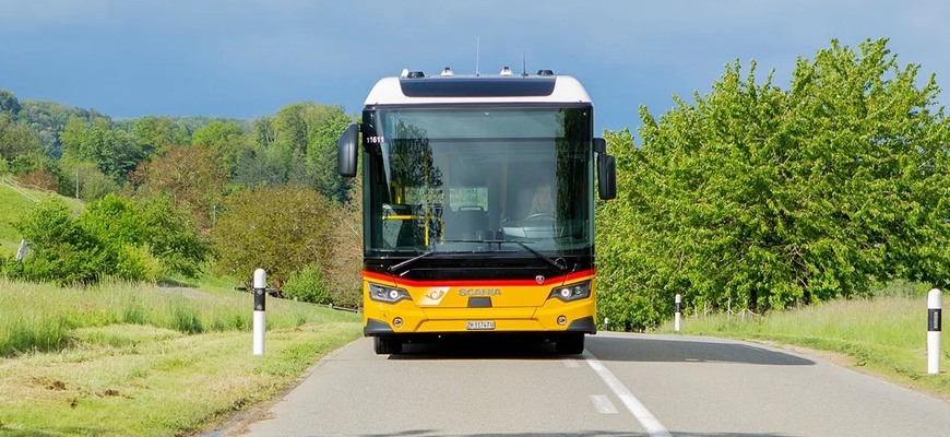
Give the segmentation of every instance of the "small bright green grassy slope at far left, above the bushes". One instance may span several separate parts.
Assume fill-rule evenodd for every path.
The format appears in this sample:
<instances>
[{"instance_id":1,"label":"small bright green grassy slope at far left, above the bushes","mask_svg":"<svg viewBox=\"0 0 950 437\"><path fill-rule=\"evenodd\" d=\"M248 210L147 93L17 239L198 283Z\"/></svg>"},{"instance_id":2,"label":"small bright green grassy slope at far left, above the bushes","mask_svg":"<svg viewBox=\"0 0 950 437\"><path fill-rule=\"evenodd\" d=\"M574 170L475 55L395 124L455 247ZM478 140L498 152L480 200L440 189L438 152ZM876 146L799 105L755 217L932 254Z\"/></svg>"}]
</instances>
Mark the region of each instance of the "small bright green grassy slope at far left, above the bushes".
<instances>
[{"instance_id":1,"label":"small bright green grassy slope at far left, above the bushes","mask_svg":"<svg viewBox=\"0 0 950 437\"><path fill-rule=\"evenodd\" d=\"M16 253L21 237L14 225L28 214L39 201L50 197L62 199L75 213L85 208L85 204L80 200L20 187L7 178L0 178L0 205L3 205L0 208L0 257Z\"/></svg>"}]
</instances>

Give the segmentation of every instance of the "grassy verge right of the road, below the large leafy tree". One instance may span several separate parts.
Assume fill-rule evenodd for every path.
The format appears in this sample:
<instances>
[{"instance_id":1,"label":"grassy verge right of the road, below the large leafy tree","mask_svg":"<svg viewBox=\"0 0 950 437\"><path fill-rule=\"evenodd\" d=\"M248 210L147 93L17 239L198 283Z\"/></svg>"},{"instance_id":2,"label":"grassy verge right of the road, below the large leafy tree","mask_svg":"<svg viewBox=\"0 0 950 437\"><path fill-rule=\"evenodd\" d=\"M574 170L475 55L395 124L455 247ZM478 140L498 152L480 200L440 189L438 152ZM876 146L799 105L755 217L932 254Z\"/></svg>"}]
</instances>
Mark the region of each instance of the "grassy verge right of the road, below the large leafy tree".
<instances>
[{"instance_id":1,"label":"grassy verge right of the road, below the large leafy tree","mask_svg":"<svg viewBox=\"0 0 950 437\"><path fill-rule=\"evenodd\" d=\"M945 296L945 315L948 303L950 298ZM664 324L661 332L673 332L673 322ZM950 333L942 335L941 374L928 375L925 297L835 300L804 309L772 311L765 317L748 314L745 317L686 317L681 332L840 353L845 357L845 365L950 401Z\"/></svg>"}]
</instances>

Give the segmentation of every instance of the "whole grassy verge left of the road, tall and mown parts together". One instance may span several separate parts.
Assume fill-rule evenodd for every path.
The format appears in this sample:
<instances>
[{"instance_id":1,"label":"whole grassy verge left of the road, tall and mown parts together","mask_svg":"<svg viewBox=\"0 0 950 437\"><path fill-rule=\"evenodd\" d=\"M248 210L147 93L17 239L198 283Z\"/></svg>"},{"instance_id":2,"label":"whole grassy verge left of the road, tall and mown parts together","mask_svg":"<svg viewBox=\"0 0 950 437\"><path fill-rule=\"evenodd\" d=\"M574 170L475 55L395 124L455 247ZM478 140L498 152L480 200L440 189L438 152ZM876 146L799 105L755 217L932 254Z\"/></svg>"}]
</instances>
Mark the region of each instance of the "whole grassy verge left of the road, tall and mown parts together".
<instances>
[{"instance_id":1,"label":"whole grassy verge left of the road, tall and mown parts together","mask_svg":"<svg viewBox=\"0 0 950 437\"><path fill-rule=\"evenodd\" d=\"M248 293L0 280L0 435L171 436L269 399L356 339L358 316Z\"/></svg>"}]
</instances>

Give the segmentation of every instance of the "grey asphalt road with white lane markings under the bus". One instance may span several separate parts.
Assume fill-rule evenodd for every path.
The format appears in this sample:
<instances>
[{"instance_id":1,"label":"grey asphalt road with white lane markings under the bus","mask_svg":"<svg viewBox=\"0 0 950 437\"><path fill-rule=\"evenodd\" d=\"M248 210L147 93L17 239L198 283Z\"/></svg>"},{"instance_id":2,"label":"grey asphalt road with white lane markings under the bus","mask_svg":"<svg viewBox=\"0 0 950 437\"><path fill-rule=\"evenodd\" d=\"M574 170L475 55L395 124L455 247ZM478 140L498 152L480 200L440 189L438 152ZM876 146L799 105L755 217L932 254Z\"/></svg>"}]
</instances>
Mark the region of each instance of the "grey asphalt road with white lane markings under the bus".
<instances>
[{"instance_id":1,"label":"grey asphalt road with white lane markings under the bus","mask_svg":"<svg viewBox=\"0 0 950 437\"><path fill-rule=\"evenodd\" d=\"M547 344L369 339L325 357L242 436L950 436L950 403L818 358L719 339Z\"/></svg>"}]
</instances>

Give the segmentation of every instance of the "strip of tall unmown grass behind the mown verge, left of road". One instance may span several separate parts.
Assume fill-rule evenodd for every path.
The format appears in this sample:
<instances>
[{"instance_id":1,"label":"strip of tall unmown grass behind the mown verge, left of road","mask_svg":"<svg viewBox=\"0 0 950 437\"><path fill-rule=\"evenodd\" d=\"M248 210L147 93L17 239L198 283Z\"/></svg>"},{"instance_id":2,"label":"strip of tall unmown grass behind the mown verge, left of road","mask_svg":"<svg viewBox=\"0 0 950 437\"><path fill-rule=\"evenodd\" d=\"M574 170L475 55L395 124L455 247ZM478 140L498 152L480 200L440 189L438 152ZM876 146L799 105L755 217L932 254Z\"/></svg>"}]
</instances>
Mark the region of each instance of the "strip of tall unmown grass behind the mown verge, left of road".
<instances>
[{"instance_id":1,"label":"strip of tall unmown grass behind the mown verge, left of road","mask_svg":"<svg viewBox=\"0 0 950 437\"><path fill-rule=\"evenodd\" d=\"M76 328L149 324L194 334L250 331L250 293L104 283L92 287L56 287L0 279L0 355L58 351ZM271 298L268 329L353 320L352 315L318 311L309 305Z\"/></svg>"}]
</instances>

